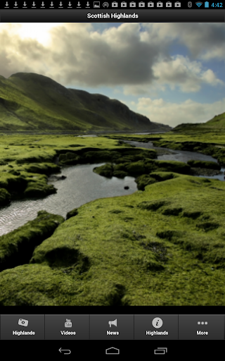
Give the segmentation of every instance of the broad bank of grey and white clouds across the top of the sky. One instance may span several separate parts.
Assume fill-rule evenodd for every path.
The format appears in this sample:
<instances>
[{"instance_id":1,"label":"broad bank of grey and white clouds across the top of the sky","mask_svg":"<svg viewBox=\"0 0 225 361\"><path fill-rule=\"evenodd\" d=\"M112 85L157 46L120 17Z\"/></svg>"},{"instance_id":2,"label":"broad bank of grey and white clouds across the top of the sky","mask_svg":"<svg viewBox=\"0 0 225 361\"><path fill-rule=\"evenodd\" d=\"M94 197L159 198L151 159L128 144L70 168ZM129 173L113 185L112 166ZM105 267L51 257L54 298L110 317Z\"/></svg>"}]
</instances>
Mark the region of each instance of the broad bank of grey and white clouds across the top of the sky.
<instances>
[{"instance_id":1,"label":"broad bank of grey and white clouds across the top of the sky","mask_svg":"<svg viewBox=\"0 0 225 361\"><path fill-rule=\"evenodd\" d=\"M198 92L203 83L222 82L200 61L169 49L179 42L195 56L220 59L224 39L224 24L211 23L122 23L101 32L91 23L3 23L1 75L34 72L66 87L121 86L126 95L148 97L167 86Z\"/></svg>"}]
</instances>

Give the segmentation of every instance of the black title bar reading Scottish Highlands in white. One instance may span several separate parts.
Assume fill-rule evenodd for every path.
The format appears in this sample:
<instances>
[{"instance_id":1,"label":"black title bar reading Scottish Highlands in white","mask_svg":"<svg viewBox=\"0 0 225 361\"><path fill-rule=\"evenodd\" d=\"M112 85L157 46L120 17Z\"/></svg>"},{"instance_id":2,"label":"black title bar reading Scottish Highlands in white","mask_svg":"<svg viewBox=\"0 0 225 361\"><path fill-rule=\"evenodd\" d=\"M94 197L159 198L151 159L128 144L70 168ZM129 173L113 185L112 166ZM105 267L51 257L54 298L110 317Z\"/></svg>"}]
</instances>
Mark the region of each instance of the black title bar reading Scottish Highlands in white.
<instances>
[{"instance_id":1,"label":"black title bar reading Scottish Highlands in white","mask_svg":"<svg viewBox=\"0 0 225 361\"><path fill-rule=\"evenodd\" d=\"M143 23L224 23L225 11L185 9L4 9L0 10L1 23L81 23L97 22L143 22Z\"/></svg>"}]
</instances>

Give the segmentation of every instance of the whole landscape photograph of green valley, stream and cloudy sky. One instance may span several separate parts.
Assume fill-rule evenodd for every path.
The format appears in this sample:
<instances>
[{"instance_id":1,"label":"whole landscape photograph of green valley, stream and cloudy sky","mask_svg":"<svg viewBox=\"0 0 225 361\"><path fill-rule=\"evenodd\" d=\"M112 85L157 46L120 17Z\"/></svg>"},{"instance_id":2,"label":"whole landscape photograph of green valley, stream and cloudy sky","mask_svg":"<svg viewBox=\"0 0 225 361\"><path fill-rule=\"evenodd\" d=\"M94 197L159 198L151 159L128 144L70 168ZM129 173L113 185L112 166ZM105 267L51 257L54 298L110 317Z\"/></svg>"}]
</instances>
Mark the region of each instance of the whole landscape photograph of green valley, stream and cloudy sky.
<instances>
[{"instance_id":1,"label":"whole landscape photograph of green valley, stream and cloudy sky","mask_svg":"<svg viewBox=\"0 0 225 361\"><path fill-rule=\"evenodd\" d=\"M224 23L0 43L0 305L224 306Z\"/></svg>"}]
</instances>

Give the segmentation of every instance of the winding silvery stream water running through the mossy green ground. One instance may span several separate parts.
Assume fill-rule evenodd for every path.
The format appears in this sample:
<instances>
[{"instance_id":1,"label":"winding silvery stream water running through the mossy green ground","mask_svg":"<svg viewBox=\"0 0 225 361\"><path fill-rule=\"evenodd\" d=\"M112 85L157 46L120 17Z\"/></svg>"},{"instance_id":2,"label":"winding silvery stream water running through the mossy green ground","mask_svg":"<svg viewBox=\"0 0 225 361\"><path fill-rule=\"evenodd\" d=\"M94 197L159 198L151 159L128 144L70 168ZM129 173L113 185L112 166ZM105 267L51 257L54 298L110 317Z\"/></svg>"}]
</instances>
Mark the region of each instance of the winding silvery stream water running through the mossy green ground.
<instances>
[{"instance_id":1,"label":"winding silvery stream water running through the mossy green ground","mask_svg":"<svg viewBox=\"0 0 225 361\"><path fill-rule=\"evenodd\" d=\"M161 153L169 151L169 154L162 154L158 159L184 161L190 159L202 161L215 161L216 159L197 152L174 151L154 147L152 143L129 142L136 147L157 149ZM102 163L103 164L103 163ZM6 207L0 209L0 235L13 231L13 229L23 226L27 221L37 217L37 212L46 210L53 214L60 214L65 217L66 214L82 204L103 197L115 197L129 195L134 193L136 183L133 177L105 178L98 176L93 172L94 167L102 164L84 164L77 166L68 166L61 170L61 174L66 176L65 180L51 181L57 189L57 193L41 199L18 200L13 201ZM221 169L225 171L225 169ZM217 178L224 181L224 175L218 175L207 178ZM128 190L124 190L128 186Z\"/></svg>"}]
</instances>

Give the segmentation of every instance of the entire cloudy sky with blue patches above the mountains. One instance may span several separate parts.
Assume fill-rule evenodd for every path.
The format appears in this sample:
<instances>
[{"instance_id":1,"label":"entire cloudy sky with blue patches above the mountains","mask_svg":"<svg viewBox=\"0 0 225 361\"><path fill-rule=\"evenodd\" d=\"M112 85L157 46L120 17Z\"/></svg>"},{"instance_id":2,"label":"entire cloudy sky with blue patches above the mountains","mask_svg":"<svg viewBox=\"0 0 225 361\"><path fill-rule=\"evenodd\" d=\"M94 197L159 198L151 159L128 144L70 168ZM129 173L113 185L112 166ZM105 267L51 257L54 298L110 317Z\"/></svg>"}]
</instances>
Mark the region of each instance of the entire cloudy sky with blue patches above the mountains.
<instances>
[{"instance_id":1,"label":"entire cloudy sky with blue patches above the mountains","mask_svg":"<svg viewBox=\"0 0 225 361\"><path fill-rule=\"evenodd\" d=\"M38 73L150 121L225 111L225 23L0 23L0 75Z\"/></svg>"}]
</instances>

